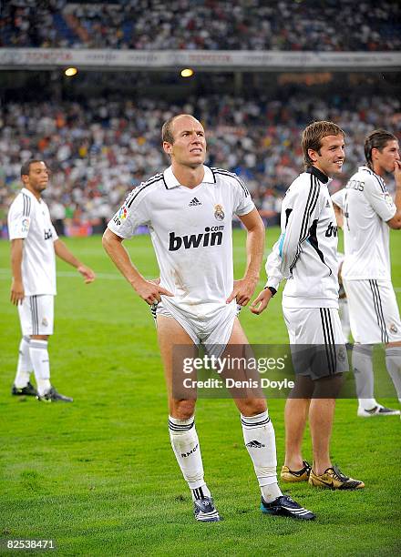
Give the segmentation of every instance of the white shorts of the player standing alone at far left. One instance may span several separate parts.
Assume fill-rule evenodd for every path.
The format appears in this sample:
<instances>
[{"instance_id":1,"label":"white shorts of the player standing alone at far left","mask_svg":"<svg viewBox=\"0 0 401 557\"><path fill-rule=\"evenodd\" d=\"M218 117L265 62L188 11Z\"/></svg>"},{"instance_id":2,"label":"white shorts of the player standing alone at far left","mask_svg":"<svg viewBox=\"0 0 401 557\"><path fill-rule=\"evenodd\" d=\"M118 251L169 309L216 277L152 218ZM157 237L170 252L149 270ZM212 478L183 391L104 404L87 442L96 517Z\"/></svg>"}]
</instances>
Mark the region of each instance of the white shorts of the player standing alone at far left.
<instances>
[{"instance_id":1,"label":"white shorts of the player standing alone at far left","mask_svg":"<svg viewBox=\"0 0 401 557\"><path fill-rule=\"evenodd\" d=\"M55 297L47 294L26 296L18 304L19 320L22 334L52 335L54 321Z\"/></svg>"}]
</instances>

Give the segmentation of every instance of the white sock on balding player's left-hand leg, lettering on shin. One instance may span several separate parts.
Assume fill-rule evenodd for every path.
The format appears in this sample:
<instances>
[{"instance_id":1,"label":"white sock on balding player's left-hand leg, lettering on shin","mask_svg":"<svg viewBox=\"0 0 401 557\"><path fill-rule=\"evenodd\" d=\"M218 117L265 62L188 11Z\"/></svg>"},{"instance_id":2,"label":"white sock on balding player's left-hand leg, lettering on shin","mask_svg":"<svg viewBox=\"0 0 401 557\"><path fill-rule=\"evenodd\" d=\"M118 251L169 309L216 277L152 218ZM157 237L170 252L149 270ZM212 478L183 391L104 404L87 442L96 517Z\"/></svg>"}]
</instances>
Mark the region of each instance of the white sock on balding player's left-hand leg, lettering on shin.
<instances>
[{"instance_id":1,"label":"white sock on balding player's left-hand leg, lettering on shin","mask_svg":"<svg viewBox=\"0 0 401 557\"><path fill-rule=\"evenodd\" d=\"M203 479L203 464L194 417L178 420L169 416L169 432L172 450L182 475L190 486L192 499L211 497L211 491Z\"/></svg>"}]
</instances>

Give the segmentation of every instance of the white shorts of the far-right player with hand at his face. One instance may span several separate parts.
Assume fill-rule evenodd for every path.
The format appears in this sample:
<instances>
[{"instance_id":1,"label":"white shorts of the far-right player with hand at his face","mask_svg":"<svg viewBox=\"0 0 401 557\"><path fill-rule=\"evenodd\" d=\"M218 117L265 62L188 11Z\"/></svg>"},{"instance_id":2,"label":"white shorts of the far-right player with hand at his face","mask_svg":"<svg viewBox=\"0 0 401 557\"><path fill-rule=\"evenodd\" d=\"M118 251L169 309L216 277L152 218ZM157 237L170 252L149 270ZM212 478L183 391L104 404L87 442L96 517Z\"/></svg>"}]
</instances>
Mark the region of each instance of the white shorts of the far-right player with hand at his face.
<instances>
[{"instance_id":1,"label":"white shorts of the far-right player with hand at his face","mask_svg":"<svg viewBox=\"0 0 401 557\"><path fill-rule=\"evenodd\" d=\"M355 342L399 342L401 322L391 280L344 280Z\"/></svg>"}]
</instances>

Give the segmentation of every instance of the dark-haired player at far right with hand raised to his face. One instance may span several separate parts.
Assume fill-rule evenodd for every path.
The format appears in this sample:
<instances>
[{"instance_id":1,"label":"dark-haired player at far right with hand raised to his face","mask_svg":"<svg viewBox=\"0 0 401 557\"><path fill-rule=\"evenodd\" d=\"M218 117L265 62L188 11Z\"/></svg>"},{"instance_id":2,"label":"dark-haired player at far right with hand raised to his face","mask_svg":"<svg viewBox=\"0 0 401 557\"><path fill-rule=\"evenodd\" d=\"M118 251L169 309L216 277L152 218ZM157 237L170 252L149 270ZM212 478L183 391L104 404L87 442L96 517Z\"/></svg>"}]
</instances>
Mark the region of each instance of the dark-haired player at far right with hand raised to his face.
<instances>
[{"instance_id":1,"label":"dark-haired player at far right with hand raised to his face","mask_svg":"<svg viewBox=\"0 0 401 557\"><path fill-rule=\"evenodd\" d=\"M394 416L374 395L373 346L386 345L386 368L401 402L401 321L391 282L390 228L401 228L401 160L396 137L376 129L365 138L365 166L332 197L344 215L344 289L355 345L357 415ZM384 176L393 173L396 199Z\"/></svg>"}]
</instances>

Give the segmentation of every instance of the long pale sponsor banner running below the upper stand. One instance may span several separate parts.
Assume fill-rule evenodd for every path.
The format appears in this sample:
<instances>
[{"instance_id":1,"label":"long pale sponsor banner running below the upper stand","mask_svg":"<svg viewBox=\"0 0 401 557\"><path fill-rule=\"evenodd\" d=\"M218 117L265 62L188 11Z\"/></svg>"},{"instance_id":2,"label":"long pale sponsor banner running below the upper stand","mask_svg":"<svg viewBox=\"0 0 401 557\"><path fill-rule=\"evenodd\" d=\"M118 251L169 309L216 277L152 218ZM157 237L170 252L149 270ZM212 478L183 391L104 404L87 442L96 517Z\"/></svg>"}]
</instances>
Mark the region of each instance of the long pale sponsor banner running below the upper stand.
<instances>
[{"instance_id":1,"label":"long pale sponsor banner running below the upper stand","mask_svg":"<svg viewBox=\"0 0 401 557\"><path fill-rule=\"evenodd\" d=\"M231 50L112 50L77 48L0 48L0 67L78 66L108 69L195 69L279 70L366 68L391 69L401 66L401 52L277 52Z\"/></svg>"}]
</instances>

